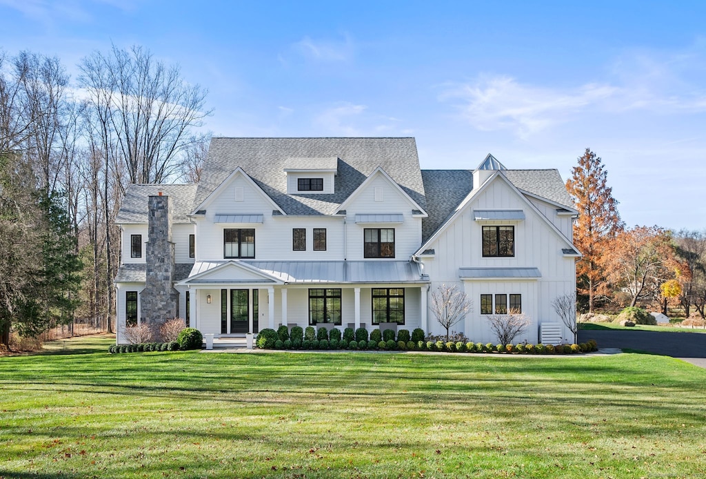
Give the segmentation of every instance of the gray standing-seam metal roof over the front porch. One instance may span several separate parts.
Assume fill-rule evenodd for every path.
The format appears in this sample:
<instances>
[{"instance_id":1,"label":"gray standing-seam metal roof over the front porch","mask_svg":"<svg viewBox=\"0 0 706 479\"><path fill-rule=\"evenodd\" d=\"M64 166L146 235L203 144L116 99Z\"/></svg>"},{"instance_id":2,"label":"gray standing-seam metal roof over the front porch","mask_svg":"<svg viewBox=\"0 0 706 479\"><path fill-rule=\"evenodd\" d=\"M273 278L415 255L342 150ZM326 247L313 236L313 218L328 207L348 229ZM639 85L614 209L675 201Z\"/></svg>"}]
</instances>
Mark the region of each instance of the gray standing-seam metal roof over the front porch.
<instances>
[{"instance_id":1,"label":"gray standing-seam metal roof over the front porch","mask_svg":"<svg viewBox=\"0 0 706 479\"><path fill-rule=\"evenodd\" d=\"M196 262L190 276L206 273L225 261ZM411 261L232 261L244 264L284 283L429 283ZM206 278L203 275L201 278Z\"/></svg>"}]
</instances>

